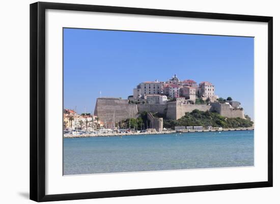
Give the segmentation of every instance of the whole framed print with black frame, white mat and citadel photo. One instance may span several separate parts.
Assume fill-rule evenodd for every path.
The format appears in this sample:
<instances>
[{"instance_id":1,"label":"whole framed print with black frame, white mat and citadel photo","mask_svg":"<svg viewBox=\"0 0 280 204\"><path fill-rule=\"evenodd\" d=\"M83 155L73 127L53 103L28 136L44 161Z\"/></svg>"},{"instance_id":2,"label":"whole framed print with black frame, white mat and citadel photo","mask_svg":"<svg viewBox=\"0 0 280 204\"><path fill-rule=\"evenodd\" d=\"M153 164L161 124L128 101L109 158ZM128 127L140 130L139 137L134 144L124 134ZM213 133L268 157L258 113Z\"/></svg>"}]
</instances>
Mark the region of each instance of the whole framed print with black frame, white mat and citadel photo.
<instances>
[{"instance_id":1,"label":"whole framed print with black frame, white mat and citadel photo","mask_svg":"<svg viewBox=\"0 0 280 204\"><path fill-rule=\"evenodd\" d=\"M30 198L272 186L272 17L30 5Z\"/></svg>"}]
</instances>

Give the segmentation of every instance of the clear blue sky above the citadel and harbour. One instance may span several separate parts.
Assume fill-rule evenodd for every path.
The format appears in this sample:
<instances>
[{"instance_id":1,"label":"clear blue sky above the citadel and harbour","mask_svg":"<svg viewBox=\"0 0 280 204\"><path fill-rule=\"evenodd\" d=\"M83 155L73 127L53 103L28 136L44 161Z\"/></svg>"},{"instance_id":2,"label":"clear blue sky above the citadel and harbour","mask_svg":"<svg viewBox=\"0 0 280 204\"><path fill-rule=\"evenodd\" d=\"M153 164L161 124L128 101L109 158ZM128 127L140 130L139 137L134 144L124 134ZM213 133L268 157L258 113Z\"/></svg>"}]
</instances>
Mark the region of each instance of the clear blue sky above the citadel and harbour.
<instances>
[{"instance_id":1,"label":"clear blue sky above the citadel and harbour","mask_svg":"<svg viewBox=\"0 0 280 204\"><path fill-rule=\"evenodd\" d=\"M210 81L254 117L254 38L64 28L64 108L133 94L143 81Z\"/></svg>"}]
</instances>

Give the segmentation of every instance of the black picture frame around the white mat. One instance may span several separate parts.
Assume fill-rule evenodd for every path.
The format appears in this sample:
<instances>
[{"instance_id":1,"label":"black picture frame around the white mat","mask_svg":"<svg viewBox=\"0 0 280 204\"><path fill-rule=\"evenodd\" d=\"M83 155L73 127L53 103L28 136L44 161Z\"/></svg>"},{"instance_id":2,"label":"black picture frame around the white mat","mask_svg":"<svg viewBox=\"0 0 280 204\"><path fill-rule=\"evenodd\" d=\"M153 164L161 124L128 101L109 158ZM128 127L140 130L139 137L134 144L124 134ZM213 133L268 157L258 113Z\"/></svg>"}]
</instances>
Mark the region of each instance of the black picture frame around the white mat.
<instances>
[{"instance_id":1,"label":"black picture frame around the white mat","mask_svg":"<svg viewBox=\"0 0 280 204\"><path fill-rule=\"evenodd\" d=\"M268 175L265 182L232 183L202 186L131 189L69 194L45 194L45 11L46 9L141 14L205 19L255 21L268 23ZM35 201L72 200L195 191L272 187L272 46L273 18L222 13L204 13L143 8L125 8L79 4L38 2L30 5L30 199Z\"/></svg>"}]
</instances>

